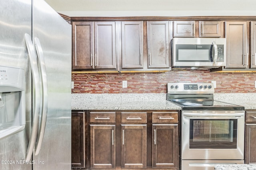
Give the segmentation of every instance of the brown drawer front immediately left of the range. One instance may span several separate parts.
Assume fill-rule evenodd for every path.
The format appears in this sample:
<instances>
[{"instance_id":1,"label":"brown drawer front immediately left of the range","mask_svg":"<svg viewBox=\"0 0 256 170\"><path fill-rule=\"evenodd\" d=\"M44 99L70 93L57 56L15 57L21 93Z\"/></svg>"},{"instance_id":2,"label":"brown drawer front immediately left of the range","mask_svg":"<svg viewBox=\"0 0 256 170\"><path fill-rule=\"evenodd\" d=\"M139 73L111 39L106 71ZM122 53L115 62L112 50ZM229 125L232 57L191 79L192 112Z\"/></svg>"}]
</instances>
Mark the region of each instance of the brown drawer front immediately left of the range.
<instances>
[{"instance_id":1,"label":"brown drawer front immediately left of the range","mask_svg":"<svg viewBox=\"0 0 256 170\"><path fill-rule=\"evenodd\" d=\"M178 123L178 112L152 112L152 123Z\"/></svg>"}]
</instances>

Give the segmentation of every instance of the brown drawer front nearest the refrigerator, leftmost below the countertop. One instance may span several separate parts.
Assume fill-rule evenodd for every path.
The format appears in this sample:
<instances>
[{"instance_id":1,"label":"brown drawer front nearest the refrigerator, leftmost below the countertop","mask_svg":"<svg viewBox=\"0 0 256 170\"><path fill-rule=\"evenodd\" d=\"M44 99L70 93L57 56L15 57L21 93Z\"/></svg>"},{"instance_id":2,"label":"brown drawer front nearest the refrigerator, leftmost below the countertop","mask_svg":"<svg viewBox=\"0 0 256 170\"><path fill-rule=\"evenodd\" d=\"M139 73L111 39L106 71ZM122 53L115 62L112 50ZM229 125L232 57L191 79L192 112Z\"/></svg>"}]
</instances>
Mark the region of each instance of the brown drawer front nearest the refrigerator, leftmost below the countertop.
<instances>
[{"instance_id":1,"label":"brown drawer front nearest the refrigerator, leftmost below the countertop","mask_svg":"<svg viewBox=\"0 0 256 170\"><path fill-rule=\"evenodd\" d=\"M116 112L90 112L90 123L116 123Z\"/></svg>"}]
</instances>

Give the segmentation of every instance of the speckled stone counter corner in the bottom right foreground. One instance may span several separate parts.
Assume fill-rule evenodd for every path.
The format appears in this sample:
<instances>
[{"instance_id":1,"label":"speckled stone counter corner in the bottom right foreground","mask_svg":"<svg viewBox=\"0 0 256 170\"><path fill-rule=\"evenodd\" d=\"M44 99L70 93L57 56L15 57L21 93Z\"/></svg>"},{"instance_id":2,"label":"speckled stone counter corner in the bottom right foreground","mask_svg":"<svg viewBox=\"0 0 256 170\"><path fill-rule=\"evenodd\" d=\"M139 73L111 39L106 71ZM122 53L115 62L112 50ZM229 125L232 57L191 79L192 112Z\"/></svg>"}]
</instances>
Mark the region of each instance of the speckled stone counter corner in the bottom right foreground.
<instances>
[{"instance_id":1,"label":"speckled stone counter corner in the bottom right foreground","mask_svg":"<svg viewBox=\"0 0 256 170\"><path fill-rule=\"evenodd\" d=\"M215 170L256 170L256 164L216 165Z\"/></svg>"}]
</instances>

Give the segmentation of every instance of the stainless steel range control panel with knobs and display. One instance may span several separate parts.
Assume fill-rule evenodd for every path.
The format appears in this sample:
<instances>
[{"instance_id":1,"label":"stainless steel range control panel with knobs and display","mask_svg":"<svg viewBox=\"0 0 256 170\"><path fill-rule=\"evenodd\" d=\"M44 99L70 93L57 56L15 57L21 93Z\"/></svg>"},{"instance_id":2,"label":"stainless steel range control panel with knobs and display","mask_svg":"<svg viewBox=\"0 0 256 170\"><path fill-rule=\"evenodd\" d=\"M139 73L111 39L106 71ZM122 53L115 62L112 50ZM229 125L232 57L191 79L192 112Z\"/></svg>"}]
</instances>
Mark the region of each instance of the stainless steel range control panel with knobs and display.
<instances>
[{"instance_id":1,"label":"stainless steel range control panel with knobs and display","mask_svg":"<svg viewBox=\"0 0 256 170\"><path fill-rule=\"evenodd\" d=\"M213 94L213 83L168 83L168 94Z\"/></svg>"}]
</instances>

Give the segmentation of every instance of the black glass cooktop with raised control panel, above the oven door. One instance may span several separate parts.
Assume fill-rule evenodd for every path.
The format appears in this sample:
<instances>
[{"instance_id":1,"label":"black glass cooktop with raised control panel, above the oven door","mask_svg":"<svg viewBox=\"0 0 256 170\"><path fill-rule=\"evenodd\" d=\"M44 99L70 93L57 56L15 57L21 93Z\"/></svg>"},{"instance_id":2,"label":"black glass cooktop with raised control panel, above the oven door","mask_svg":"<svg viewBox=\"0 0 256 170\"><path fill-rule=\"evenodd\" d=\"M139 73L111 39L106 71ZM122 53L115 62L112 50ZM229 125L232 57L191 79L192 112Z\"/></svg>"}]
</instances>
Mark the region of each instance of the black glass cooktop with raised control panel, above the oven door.
<instances>
[{"instance_id":1,"label":"black glass cooktop with raised control panel, above the oven door","mask_svg":"<svg viewBox=\"0 0 256 170\"><path fill-rule=\"evenodd\" d=\"M168 83L167 100L182 110L244 110L243 106L214 100L212 83Z\"/></svg>"}]
</instances>

